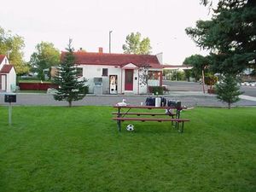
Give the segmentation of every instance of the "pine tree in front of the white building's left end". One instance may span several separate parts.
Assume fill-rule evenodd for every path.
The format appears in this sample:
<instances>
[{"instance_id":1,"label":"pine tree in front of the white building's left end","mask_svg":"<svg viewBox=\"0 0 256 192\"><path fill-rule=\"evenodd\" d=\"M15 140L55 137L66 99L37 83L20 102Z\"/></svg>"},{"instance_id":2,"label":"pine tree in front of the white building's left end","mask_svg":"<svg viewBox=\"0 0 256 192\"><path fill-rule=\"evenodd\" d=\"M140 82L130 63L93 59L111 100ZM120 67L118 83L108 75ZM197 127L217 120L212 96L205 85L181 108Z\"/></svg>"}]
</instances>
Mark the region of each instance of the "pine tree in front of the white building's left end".
<instances>
[{"instance_id":1,"label":"pine tree in front of the white building's left end","mask_svg":"<svg viewBox=\"0 0 256 192\"><path fill-rule=\"evenodd\" d=\"M58 72L54 83L58 85L57 92L54 95L57 101L67 101L68 106L72 106L73 101L84 98L87 93L87 86L84 84L86 80L80 80L77 67L75 67L75 57L71 46L72 40L69 40L67 53L58 67Z\"/></svg>"}]
</instances>

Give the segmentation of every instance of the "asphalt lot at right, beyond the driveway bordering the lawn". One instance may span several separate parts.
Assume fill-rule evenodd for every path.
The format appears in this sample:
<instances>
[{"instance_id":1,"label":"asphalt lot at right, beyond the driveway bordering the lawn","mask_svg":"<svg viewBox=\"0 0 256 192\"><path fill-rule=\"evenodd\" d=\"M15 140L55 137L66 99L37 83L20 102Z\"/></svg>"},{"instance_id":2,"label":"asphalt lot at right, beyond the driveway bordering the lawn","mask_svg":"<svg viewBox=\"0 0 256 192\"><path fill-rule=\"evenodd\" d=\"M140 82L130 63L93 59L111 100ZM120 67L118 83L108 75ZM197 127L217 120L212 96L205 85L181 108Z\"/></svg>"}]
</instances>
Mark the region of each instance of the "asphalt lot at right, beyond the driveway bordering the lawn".
<instances>
[{"instance_id":1,"label":"asphalt lot at right, beyond the driveway bordering the lawn","mask_svg":"<svg viewBox=\"0 0 256 192\"><path fill-rule=\"evenodd\" d=\"M166 84L169 90L183 90L183 91L202 91L202 85L195 82L185 82L185 81L167 81L164 80L163 84ZM206 88L207 89L207 88ZM256 87L241 86L241 91L243 95L246 96L256 96Z\"/></svg>"}]
</instances>

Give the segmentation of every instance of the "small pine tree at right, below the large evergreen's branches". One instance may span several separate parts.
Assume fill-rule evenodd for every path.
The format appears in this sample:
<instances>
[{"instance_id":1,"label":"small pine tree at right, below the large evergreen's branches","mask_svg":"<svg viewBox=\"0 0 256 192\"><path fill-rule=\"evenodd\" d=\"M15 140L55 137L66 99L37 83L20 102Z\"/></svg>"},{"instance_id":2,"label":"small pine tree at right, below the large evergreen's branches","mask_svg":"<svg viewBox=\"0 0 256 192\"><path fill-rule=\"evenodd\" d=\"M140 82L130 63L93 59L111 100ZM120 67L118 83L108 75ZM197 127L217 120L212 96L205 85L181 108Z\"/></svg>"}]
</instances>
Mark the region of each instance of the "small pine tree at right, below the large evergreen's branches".
<instances>
[{"instance_id":1,"label":"small pine tree at right, below the large evergreen's branches","mask_svg":"<svg viewBox=\"0 0 256 192\"><path fill-rule=\"evenodd\" d=\"M217 84L217 98L220 101L227 102L230 105L233 102L238 102L240 100L239 96L242 92L239 90L239 86L237 85L236 76L231 74L226 74L224 79Z\"/></svg>"}]
</instances>

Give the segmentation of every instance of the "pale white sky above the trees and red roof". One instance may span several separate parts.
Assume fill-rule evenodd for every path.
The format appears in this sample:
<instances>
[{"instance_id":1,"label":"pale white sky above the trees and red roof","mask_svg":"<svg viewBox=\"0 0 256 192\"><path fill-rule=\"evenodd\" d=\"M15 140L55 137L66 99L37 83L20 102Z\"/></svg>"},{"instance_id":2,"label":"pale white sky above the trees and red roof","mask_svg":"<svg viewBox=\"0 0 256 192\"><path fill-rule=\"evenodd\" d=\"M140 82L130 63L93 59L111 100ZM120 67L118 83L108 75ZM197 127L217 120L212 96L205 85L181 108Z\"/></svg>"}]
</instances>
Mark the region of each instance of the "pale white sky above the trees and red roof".
<instances>
[{"instance_id":1,"label":"pale white sky above the trees and red roof","mask_svg":"<svg viewBox=\"0 0 256 192\"><path fill-rule=\"evenodd\" d=\"M141 32L151 41L152 55L163 52L166 64L182 64L185 57L205 55L185 28L207 20L200 0L8 0L1 2L0 26L24 38L26 61L36 44L46 41L64 50L68 39L75 49L122 53L125 37Z\"/></svg>"}]
</instances>

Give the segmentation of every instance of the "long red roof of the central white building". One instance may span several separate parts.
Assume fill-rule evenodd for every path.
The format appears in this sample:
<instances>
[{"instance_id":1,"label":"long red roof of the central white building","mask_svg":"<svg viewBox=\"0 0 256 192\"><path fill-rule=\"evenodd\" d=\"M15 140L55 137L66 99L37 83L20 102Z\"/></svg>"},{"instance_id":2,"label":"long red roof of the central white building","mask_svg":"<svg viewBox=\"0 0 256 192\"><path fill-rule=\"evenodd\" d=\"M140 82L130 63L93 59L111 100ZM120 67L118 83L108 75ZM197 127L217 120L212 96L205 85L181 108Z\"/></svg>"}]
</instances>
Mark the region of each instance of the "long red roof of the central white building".
<instances>
[{"instance_id":1,"label":"long red roof of the central white building","mask_svg":"<svg viewBox=\"0 0 256 192\"><path fill-rule=\"evenodd\" d=\"M61 58L66 52L61 53ZM156 55L134 55L134 54L108 54L108 53L88 53L74 52L76 64L86 65L108 65L123 67L132 63L137 67L149 64L150 67L161 67Z\"/></svg>"}]
</instances>

